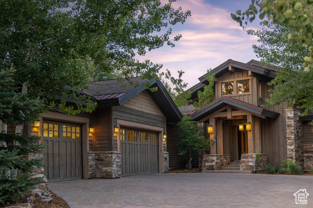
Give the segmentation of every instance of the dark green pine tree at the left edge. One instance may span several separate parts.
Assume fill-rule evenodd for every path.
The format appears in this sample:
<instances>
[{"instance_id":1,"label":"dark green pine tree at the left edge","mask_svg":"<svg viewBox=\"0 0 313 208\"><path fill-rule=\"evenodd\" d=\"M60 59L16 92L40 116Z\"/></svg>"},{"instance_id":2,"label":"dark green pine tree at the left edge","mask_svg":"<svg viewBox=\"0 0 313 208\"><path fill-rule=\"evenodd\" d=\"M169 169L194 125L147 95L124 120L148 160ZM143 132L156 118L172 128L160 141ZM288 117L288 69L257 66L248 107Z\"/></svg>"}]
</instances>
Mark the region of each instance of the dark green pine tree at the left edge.
<instances>
[{"instance_id":1,"label":"dark green pine tree at the left edge","mask_svg":"<svg viewBox=\"0 0 313 208\"><path fill-rule=\"evenodd\" d=\"M42 101L31 100L19 92L18 84L13 79L16 70L12 66L0 71L0 120L10 125L26 124L38 118L37 112L42 108ZM44 145L37 144L38 140L40 137L0 133L0 204L23 196L41 181L41 178L30 179L29 173L33 167L42 167L43 160L28 160L27 157L29 153L43 152ZM17 178L12 179L6 174L12 169L18 170Z\"/></svg>"}]
</instances>

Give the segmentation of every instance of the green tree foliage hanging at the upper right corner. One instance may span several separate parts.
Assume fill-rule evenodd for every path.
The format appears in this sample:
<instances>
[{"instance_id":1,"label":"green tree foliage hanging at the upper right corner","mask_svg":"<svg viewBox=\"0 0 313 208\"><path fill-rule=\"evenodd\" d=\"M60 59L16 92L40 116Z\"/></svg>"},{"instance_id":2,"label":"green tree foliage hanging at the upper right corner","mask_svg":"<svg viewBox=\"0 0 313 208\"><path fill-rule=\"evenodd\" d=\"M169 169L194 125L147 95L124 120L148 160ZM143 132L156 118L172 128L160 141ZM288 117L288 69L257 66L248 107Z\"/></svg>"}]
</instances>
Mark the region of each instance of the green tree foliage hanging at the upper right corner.
<instances>
[{"instance_id":1,"label":"green tree foliage hanging at the upper right corner","mask_svg":"<svg viewBox=\"0 0 313 208\"><path fill-rule=\"evenodd\" d=\"M253 21L256 14L264 19L261 31L246 30L261 42L254 52L265 64L280 66L269 84L268 106L286 103L303 109L303 115L313 112L313 0L252 0L242 13L232 18L242 25Z\"/></svg>"}]
</instances>

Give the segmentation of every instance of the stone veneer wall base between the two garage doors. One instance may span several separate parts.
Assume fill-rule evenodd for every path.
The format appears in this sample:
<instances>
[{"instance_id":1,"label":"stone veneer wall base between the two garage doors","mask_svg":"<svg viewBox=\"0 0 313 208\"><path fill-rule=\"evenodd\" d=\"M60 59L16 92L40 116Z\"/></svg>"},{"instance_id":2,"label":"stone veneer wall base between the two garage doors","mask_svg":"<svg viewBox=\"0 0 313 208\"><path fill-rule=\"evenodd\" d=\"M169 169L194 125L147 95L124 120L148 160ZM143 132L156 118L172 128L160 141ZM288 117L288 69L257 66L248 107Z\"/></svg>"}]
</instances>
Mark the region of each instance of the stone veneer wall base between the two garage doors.
<instances>
[{"instance_id":1,"label":"stone veneer wall base between the two garage doors","mask_svg":"<svg viewBox=\"0 0 313 208\"><path fill-rule=\"evenodd\" d=\"M88 178L120 178L120 151L89 151Z\"/></svg>"}]
</instances>

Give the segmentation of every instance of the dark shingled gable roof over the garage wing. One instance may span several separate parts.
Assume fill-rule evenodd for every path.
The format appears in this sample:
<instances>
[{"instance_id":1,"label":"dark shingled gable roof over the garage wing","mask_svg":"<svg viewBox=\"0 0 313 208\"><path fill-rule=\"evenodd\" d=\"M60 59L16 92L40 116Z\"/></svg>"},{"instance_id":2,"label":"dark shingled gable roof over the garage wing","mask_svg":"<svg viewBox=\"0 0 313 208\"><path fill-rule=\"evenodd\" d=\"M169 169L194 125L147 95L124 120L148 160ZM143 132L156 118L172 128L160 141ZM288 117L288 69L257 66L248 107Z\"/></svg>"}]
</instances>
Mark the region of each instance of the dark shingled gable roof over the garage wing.
<instances>
[{"instance_id":1,"label":"dark shingled gable roof over the garage wing","mask_svg":"<svg viewBox=\"0 0 313 208\"><path fill-rule=\"evenodd\" d=\"M97 100L97 108L119 106L146 90L144 84L148 82L147 79L132 77L131 81L138 82L139 86L128 86L129 83L126 79L121 81L113 79L89 82L90 88L84 91ZM159 80L151 80L150 82L152 83L151 87L157 87L157 90L155 92L148 90L148 93L166 116L166 122L170 124L179 122L182 115L162 83ZM121 83L127 85L127 87L123 87Z\"/></svg>"}]
</instances>

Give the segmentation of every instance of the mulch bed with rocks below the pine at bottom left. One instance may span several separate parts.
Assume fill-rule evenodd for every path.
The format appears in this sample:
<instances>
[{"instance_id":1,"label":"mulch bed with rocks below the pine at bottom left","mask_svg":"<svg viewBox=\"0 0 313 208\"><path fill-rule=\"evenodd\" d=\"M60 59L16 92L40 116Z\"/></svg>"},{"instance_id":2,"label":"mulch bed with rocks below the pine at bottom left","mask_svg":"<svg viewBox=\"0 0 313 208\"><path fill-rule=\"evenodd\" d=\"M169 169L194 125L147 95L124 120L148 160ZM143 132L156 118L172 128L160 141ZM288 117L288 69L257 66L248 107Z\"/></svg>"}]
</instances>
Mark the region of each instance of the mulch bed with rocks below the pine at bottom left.
<instances>
[{"instance_id":1,"label":"mulch bed with rocks below the pine at bottom left","mask_svg":"<svg viewBox=\"0 0 313 208\"><path fill-rule=\"evenodd\" d=\"M33 208L70 208L66 201L64 201L61 197L54 194L52 191L48 191L51 193L52 201L50 203L43 202L41 197L35 197ZM7 206L13 206L17 203L27 203L27 197L31 196L31 193L25 194L24 197L11 201L9 204L0 205L0 208L4 208Z\"/></svg>"}]
</instances>

